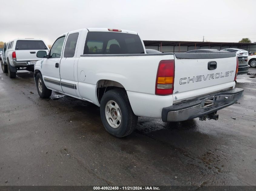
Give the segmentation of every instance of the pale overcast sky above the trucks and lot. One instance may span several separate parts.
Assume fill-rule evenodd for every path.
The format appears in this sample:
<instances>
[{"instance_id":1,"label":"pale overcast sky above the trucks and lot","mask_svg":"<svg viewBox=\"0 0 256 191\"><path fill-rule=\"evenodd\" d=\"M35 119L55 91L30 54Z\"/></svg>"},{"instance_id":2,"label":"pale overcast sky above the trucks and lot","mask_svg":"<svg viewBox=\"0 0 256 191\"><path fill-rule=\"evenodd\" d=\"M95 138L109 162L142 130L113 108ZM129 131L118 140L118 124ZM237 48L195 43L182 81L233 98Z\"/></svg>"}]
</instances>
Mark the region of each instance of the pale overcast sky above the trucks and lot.
<instances>
[{"instance_id":1,"label":"pale overcast sky above the trucks and lot","mask_svg":"<svg viewBox=\"0 0 256 191\"><path fill-rule=\"evenodd\" d=\"M256 42L255 0L0 0L0 41L89 27L133 30L143 40Z\"/></svg>"}]
</instances>

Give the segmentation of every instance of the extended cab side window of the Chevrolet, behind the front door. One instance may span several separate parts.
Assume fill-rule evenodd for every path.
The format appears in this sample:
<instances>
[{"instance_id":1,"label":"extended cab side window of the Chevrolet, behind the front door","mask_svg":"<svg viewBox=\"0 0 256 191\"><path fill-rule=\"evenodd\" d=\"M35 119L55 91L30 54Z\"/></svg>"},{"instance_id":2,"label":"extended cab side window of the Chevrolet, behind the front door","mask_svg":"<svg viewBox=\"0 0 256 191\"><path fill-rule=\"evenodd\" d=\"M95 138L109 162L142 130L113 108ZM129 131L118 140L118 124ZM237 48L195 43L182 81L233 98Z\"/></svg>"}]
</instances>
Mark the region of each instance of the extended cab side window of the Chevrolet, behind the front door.
<instances>
[{"instance_id":1,"label":"extended cab side window of the Chevrolet, behind the front door","mask_svg":"<svg viewBox=\"0 0 256 191\"><path fill-rule=\"evenodd\" d=\"M78 34L79 33L73 33L68 35L68 39L65 45L65 50L64 50L64 57L65 58L70 58L74 57L75 55L75 47L78 39Z\"/></svg>"}]
</instances>

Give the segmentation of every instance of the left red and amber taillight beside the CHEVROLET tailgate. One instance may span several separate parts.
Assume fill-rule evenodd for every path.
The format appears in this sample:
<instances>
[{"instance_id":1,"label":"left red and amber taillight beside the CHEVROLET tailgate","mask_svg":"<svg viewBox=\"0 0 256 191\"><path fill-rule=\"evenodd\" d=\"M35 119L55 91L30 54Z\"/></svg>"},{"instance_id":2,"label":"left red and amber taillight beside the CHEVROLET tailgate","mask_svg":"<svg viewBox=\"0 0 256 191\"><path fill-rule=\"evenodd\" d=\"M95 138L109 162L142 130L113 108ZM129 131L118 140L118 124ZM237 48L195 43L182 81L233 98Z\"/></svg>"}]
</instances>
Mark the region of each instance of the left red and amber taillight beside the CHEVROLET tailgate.
<instances>
[{"instance_id":1,"label":"left red and amber taillight beside the CHEVROLET tailgate","mask_svg":"<svg viewBox=\"0 0 256 191\"><path fill-rule=\"evenodd\" d=\"M156 95L173 94L174 68L174 60L162 60L159 62L155 84Z\"/></svg>"}]
</instances>

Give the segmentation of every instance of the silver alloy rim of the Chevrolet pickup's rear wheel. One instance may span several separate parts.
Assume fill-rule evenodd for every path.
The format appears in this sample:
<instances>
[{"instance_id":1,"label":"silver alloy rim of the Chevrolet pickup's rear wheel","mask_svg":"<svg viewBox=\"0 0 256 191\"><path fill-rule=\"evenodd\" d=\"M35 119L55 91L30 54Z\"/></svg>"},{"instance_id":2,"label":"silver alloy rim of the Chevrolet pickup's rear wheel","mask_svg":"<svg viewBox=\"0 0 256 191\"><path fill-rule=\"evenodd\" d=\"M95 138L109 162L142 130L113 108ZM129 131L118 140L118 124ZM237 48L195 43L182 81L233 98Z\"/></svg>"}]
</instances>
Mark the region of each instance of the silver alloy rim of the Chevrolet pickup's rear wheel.
<instances>
[{"instance_id":1,"label":"silver alloy rim of the Chevrolet pickup's rear wheel","mask_svg":"<svg viewBox=\"0 0 256 191\"><path fill-rule=\"evenodd\" d=\"M110 100L105 106L105 116L108 124L113 128L118 128L121 124L121 110L118 104Z\"/></svg>"}]
</instances>

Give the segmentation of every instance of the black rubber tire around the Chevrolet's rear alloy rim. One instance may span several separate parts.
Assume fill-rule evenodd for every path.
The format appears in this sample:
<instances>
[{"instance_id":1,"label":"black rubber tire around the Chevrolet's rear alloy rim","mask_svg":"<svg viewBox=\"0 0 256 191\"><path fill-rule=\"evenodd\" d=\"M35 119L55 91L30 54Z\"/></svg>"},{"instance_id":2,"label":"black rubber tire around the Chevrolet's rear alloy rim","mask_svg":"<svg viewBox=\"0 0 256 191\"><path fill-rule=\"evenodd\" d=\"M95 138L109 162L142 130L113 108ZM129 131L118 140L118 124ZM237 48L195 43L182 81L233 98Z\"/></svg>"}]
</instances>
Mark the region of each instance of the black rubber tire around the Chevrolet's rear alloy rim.
<instances>
[{"instance_id":1,"label":"black rubber tire around the Chevrolet's rear alloy rim","mask_svg":"<svg viewBox=\"0 0 256 191\"><path fill-rule=\"evenodd\" d=\"M120 108L121 122L117 128L112 127L106 117L105 107L106 104L113 100ZM100 105L101 120L105 129L115 137L125 137L130 135L136 128L138 116L135 116L131 109L131 105L125 90L114 89L107 91L101 98ZM111 113L111 112L109 112Z\"/></svg>"}]
</instances>

